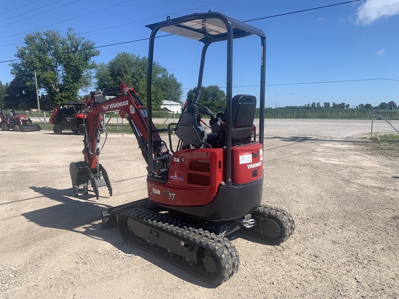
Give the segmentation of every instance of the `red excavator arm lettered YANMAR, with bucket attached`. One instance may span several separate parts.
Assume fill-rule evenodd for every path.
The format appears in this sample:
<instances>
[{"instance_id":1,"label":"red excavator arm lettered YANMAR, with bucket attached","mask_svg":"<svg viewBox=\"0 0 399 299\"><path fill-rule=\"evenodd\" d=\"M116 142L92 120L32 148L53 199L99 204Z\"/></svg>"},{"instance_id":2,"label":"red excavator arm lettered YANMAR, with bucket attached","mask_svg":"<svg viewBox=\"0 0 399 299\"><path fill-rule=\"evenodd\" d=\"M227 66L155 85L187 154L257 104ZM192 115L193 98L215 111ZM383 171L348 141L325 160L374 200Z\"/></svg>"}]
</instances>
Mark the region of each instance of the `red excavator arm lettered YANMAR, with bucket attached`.
<instances>
[{"instance_id":1,"label":"red excavator arm lettered YANMAR, with bucket attached","mask_svg":"<svg viewBox=\"0 0 399 299\"><path fill-rule=\"evenodd\" d=\"M98 96L105 101L97 101ZM72 186L75 195L78 187L83 185L84 192L88 192L88 181L99 198L98 188L107 186L110 196L112 187L108 174L99 163L99 155L107 140L107 130L100 127L100 115L108 112L118 112L122 118L126 118L135 134L142 155L148 164L148 127L147 110L133 87L126 87L121 83L120 87L107 88L101 92L91 92L86 98L86 109L83 113L84 134L84 161L72 162L69 166ZM168 168L171 153L166 143L161 139L159 130L152 124L153 129L153 154L156 163L164 164ZM104 142L101 144L101 135L105 134ZM159 167L158 167L159 168Z\"/></svg>"}]
</instances>

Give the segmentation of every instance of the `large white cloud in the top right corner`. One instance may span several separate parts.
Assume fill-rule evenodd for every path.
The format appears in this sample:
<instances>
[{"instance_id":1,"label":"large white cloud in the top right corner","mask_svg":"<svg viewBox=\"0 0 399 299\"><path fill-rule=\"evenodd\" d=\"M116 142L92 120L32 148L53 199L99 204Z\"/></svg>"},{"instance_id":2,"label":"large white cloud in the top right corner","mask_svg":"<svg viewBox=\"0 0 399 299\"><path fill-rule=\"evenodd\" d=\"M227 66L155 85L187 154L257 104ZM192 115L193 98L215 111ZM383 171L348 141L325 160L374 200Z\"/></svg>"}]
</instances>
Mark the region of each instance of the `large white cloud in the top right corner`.
<instances>
[{"instance_id":1,"label":"large white cloud in the top right corner","mask_svg":"<svg viewBox=\"0 0 399 299\"><path fill-rule=\"evenodd\" d=\"M371 25L381 17L399 14L399 0L366 0L356 11L356 23Z\"/></svg>"}]
</instances>

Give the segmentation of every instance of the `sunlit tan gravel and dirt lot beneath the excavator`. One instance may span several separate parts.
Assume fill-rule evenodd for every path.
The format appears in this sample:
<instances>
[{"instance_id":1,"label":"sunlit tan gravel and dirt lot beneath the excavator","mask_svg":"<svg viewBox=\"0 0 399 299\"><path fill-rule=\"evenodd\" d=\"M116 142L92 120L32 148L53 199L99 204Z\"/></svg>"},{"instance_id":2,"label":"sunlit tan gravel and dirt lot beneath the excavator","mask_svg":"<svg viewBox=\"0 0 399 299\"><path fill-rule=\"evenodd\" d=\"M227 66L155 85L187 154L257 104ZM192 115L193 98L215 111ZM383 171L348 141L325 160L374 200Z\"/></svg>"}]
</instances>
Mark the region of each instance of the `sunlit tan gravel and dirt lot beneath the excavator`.
<instances>
[{"instance_id":1,"label":"sunlit tan gravel and dirt lot beneath the excavator","mask_svg":"<svg viewBox=\"0 0 399 299\"><path fill-rule=\"evenodd\" d=\"M366 121L266 123L262 203L289 211L296 231L279 246L239 231L240 269L217 288L100 230L100 210L146 197L133 135L109 136L114 195L95 200L71 196L80 136L0 132L0 298L399 298L399 160L353 143L369 132Z\"/></svg>"}]
</instances>

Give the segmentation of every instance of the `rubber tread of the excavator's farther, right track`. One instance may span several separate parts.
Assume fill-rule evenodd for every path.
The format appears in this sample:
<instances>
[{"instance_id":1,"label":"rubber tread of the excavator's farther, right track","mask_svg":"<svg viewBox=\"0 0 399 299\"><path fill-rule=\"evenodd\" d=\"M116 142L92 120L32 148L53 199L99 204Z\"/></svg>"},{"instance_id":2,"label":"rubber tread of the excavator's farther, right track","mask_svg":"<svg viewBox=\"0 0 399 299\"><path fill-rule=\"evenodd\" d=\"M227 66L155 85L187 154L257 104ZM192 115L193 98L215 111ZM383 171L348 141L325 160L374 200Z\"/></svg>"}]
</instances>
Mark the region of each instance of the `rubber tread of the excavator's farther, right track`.
<instances>
[{"instance_id":1,"label":"rubber tread of the excavator's farther, right track","mask_svg":"<svg viewBox=\"0 0 399 299\"><path fill-rule=\"evenodd\" d=\"M274 217L274 220L279 220L280 225L284 228L284 232L282 235L280 235L277 239L269 239L267 238L270 242L274 244L280 244L287 240L293 233L295 229L295 221L294 218L292 218L291 214L288 213L286 210L281 209L281 208L273 208L265 205L259 205L259 207L256 209L254 212L254 216L260 216L260 214L263 215L270 215ZM277 218L277 219L276 219Z\"/></svg>"}]
</instances>

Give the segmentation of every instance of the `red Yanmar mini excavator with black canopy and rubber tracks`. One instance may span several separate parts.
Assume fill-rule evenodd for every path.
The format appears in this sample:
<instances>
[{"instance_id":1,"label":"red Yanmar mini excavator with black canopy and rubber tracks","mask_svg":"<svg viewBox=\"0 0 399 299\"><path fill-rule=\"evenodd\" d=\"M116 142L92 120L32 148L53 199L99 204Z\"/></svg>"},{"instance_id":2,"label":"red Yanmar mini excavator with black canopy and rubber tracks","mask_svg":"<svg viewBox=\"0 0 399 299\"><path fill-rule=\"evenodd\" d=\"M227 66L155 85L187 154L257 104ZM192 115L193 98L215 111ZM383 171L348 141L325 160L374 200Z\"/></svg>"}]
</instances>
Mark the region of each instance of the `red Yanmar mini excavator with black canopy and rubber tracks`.
<instances>
[{"instance_id":1,"label":"red Yanmar mini excavator with black canopy and rubber tracks","mask_svg":"<svg viewBox=\"0 0 399 299\"><path fill-rule=\"evenodd\" d=\"M107 139L98 120L102 113L118 111L129 121L148 164L148 197L103 210L102 227L117 223L127 242L219 285L233 276L240 264L238 252L226 236L246 228L270 243L279 244L295 227L288 212L261 204L266 37L258 28L210 11L168 17L147 27L152 30L147 108L134 88L123 83L88 96L83 118L84 161L70 164L73 189L77 194L78 187L83 185L87 192L87 183L91 181L97 198L102 186L107 186L112 195L107 172L98 160ZM151 115L154 39L158 31L203 43L195 99L185 103L179 121L169 124L168 129L156 129ZM258 135L253 126L256 98L245 94L232 96L233 39L250 35L260 37ZM214 115L200 107L200 91L206 50L217 41L227 41L227 88L225 111ZM211 132L202 127L201 115L209 116ZM169 148L161 132L168 133ZM102 134L105 140L101 145Z\"/></svg>"}]
</instances>

